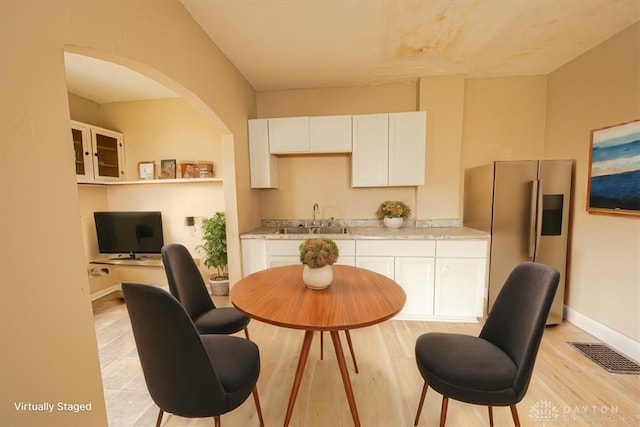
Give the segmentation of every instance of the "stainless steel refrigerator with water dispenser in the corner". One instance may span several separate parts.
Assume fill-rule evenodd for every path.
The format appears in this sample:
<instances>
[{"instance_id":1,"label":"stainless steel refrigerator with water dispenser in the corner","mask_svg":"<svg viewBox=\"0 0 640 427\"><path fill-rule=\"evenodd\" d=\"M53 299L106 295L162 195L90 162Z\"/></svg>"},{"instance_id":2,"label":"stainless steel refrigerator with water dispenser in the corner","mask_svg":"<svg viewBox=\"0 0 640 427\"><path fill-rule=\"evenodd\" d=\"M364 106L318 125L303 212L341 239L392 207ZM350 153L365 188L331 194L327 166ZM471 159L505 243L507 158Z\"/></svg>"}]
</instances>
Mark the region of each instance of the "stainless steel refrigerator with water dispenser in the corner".
<instances>
[{"instance_id":1,"label":"stainless steel refrigerator with water dispenser in the corner","mask_svg":"<svg viewBox=\"0 0 640 427\"><path fill-rule=\"evenodd\" d=\"M572 169L572 160L523 160L465 170L463 223L491 234L488 311L511 270L535 261L560 272L547 324L562 322Z\"/></svg>"}]
</instances>

